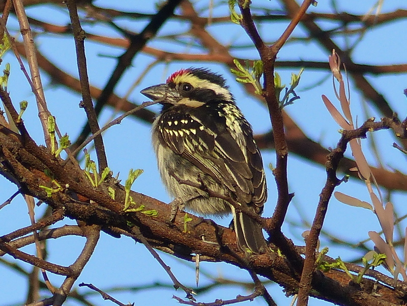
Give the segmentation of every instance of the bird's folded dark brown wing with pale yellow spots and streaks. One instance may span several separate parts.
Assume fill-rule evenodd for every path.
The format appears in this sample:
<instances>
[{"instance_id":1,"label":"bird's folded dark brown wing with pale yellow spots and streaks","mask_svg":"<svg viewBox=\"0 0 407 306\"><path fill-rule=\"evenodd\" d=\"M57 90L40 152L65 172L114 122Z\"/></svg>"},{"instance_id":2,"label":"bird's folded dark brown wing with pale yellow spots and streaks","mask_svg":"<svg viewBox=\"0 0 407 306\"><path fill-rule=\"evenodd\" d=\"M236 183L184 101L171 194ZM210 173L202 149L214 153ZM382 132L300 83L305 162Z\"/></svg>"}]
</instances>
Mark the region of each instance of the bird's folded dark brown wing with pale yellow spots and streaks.
<instances>
[{"instance_id":1,"label":"bird's folded dark brown wing with pale yellow spots and streaks","mask_svg":"<svg viewBox=\"0 0 407 306\"><path fill-rule=\"evenodd\" d=\"M267 199L263 163L243 116L229 125L224 117L214 118L217 114L202 116L193 110L165 116L161 139L172 151L224 184L238 202L263 206Z\"/></svg>"}]
</instances>

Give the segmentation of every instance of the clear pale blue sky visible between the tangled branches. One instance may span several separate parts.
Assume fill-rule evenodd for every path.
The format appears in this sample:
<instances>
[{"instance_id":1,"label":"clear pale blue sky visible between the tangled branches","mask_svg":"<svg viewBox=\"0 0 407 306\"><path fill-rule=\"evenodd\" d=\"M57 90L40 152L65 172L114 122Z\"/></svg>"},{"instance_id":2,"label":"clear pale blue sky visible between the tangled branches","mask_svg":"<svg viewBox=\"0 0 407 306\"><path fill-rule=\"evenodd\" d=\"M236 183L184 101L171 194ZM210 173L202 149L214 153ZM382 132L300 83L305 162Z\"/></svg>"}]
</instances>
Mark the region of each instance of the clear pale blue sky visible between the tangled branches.
<instances>
[{"instance_id":1,"label":"clear pale blue sky visible between the tangled branches","mask_svg":"<svg viewBox=\"0 0 407 306\"><path fill-rule=\"evenodd\" d=\"M114 4L114 8L127 11L142 11L146 13L154 13L155 6L153 3L142 5L136 2L137 8L134 8L134 3L121 2ZM341 1L339 11L347 11L354 14L364 14L375 3L375 1L359 2L355 5L353 1ZM96 1L94 3L98 6L109 6L108 1ZM198 1L198 7L206 7L207 1ZM253 1L253 6L269 6L270 8L278 8L275 2ZM141 8L140 8L141 6ZM402 0L398 1L385 1L382 11L389 12L397 8L406 8L406 4ZM318 6L311 7L310 11L313 12L333 12L331 2L321 1ZM223 6L219 10L214 11L214 15L224 15L226 8ZM36 11L34 8L28 9L27 13L30 16L37 17L47 22L64 25L69 22L67 14L64 10L55 9L53 7L42 8L41 11ZM203 14L207 14L205 11ZM118 21L118 24L126 26L132 31L139 31L147 20L128 23L126 20ZM9 31L16 33L17 23L10 17ZM263 25L260 28L260 33L265 40L275 40L278 35L283 31L286 22L275 22L268 25ZM324 22L322 24L324 29L331 29L334 25L331 22ZM107 36L118 36L117 33L110 30L107 26L86 25L86 31L92 33L99 33ZM368 32L363 40L357 45L353 52L354 61L361 64L392 64L392 63L406 63L407 53L405 52L405 45L407 42L407 32L400 31L400 29L407 28L407 20L394 22L388 25L377 26L373 31ZM159 35L166 35L172 31L180 33L187 31L188 26L180 22L169 22L168 27L164 27ZM230 35L225 35L223 31L227 31ZM209 29L221 42L242 44L249 44L250 41L244 34L243 30L238 25L218 25ZM305 37L306 34L301 26L294 32L294 37ZM350 41L354 41L354 37L349 37ZM74 42L69 36L59 38L56 35L38 35L36 37L38 48L41 52L47 55L49 59L56 63L60 68L67 70L74 76L77 76L76 60L74 54ZM343 47L344 40L340 36L336 42ZM153 41L149 43L150 46L165 47L169 50L174 50L175 47L162 41ZM193 48L178 46L181 52L193 52ZM99 88L103 88L106 81L114 69L115 60L112 57L118 56L123 52L122 49L116 47L104 47L92 41L86 41L86 56L88 60L89 76L91 84ZM253 48L240 49L232 52L236 57L255 59L258 57ZM102 56L103 55L103 56ZM111 58L109 58L111 57ZM279 53L278 60L315 60L315 61L328 61L328 53L322 51L315 43L307 43L303 41L290 42L283 47ZM123 95L131 85L131 83L140 75L140 73L153 61L152 57L145 54L138 55L132 67L125 73L121 79L115 93ZM35 99L28 87L25 79L22 76L19 66L13 58L12 54L6 55L4 62L11 64L11 75L9 81L9 91L13 102L18 105L20 100L27 100L29 103L28 109L24 113L23 119L32 136L38 144L43 143L43 136L39 120L37 117L37 110L35 106ZM3 64L4 65L4 64ZM234 78L230 75L228 70L218 64L210 63L192 63L192 62L175 62L168 64L158 64L155 66L144 78L141 84L135 89L130 96L130 100L134 102L144 101L144 97L139 94L139 91L145 87L157 84L158 82L165 81L167 75L180 68L189 66L195 67L208 67L216 72L222 73L227 78L227 83L231 91L235 94L239 107L243 110L249 122L253 125L256 133L266 132L270 129L270 122L267 110L257 100L247 96L242 91L241 85L237 84ZM3 69L3 68L2 68ZM291 70L278 69L278 72L283 78L283 82L288 84ZM298 71L293 71L297 73ZM298 89L298 94L301 100L296 101L294 105L285 108L286 112L298 122L304 132L311 137L314 141L318 141L325 147L335 147L339 140L340 134L338 133L339 126L329 116L325 106L321 100L321 94L327 95L331 101L334 101L334 93L331 84L331 78L328 77L328 71L315 71L307 69L304 71L301 79L301 84ZM326 80L322 85L316 86L318 81ZM406 100L403 95L403 89L407 88L407 78L405 74L399 75L383 75L383 76L367 76L368 80L379 90L386 99L388 99L391 106L398 112L401 118L406 114ZM78 135L84 120L85 115L83 109L78 107L80 96L76 93L66 91L61 86L52 84L52 80L46 74L42 75L42 80L45 88L47 103L51 113L56 117L56 122L63 133L68 133L71 140L74 140ZM312 88L311 90L307 88ZM351 96L352 96L352 110L354 116L358 116L358 122L363 122L366 118L361 108L364 103L362 96L355 89L351 81ZM152 107L157 110L157 107ZM368 107L369 116L377 115L372 107ZM112 109L106 108L101 117L100 122L103 125L107 122L112 114ZM397 150L391 148L394 142L394 137L388 131L381 131L375 134L379 142L379 150L382 153L384 165L388 169L398 169L400 171L407 171L405 164L405 157ZM114 174L120 172L120 178L124 181L130 168L142 168L144 173L137 179L133 185L133 190L147 194L150 197L159 199L164 202L169 202L170 198L166 194L156 168L156 161L154 153L150 145L150 126L144 123L137 122L133 118L125 119L121 125L114 126L104 133L104 140L106 145L106 154L108 157L109 167ZM380 141L379 141L380 140ZM362 142L362 146L369 147L367 141ZM350 153L347 152L347 156ZM375 165L374 157L366 151L368 160L371 164ZM275 164L274 151L268 150L262 152L263 160L265 163L266 175L269 187L269 200L266 204L265 216L270 216L274 210L274 203L276 201L276 187L271 170L268 164ZM319 192L325 183L325 170L315 164L309 164L303 159L290 154L288 162L288 181L290 184L290 191L295 192L296 196L292 205L289 208L287 219L292 221L299 221L305 218L312 221L315 207L318 201ZM340 176L340 174L338 175ZM362 200L368 201L368 193L364 184L356 180L351 180L346 184L338 187L339 191L351 194L352 196L359 197ZM12 193L16 191L16 187L4 179L0 179L0 203L3 203ZM392 197L393 203L400 214L405 213L402 206L405 203L405 194L395 192ZM298 209L297 209L298 208ZM36 208L37 216L45 209L45 204ZM230 218L217 220L220 224L227 226ZM64 220L66 224L74 224L72 220ZM30 220L27 215L26 205L22 198L17 197L12 204L5 207L0 211L0 235L9 233L15 229L27 226ZM63 222L57 224L61 226ZM329 206L325 227L324 229L343 237L351 239L352 241L359 241L367 238L369 230L379 231L379 222L375 216L360 208L348 207L336 200L332 200ZM301 238L302 230L289 227L283 227L284 233L292 238L296 244L303 244ZM73 262L79 254L83 246L84 239L77 237L62 238L48 242L49 245L49 258L51 262L62 265L69 265ZM326 241L322 239L321 245L325 246ZM68 246L68 247L67 247ZM34 252L33 246L27 246L22 249L24 252ZM187 286L195 288L194 285L194 269L191 264L181 262L180 260L160 253L167 265L171 266L172 271L178 279ZM329 254L331 257L341 256L342 259L354 259L355 256L361 256L360 253L352 252L349 249L344 250L340 247L330 247ZM13 261L11 257L5 257L8 261ZM24 265L23 265L24 266ZM185 267L187 266L187 267ZM25 265L28 270L31 267ZM242 281L249 281L250 277L246 271L240 270L228 264L213 264L201 263L202 271L207 271L213 276L230 277L231 279L238 279ZM10 271L3 265L0 265L0 305L10 305L14 302L20 303L25 299L27 284L25 279L18 273ZM62 277L55 276L48 273L51 282L58 286L62 282ZM92 283L101 289L108 289L111 286L125 287L125 286L142 286L154 284L155 282L171 284L169 277L157 262L146 251L146 248L141 244L134 244L134 242L126 237L121 239L114 239L106 234L102 234L100 242L96 251L86 265L83 273L80 275L76 284L81 282ZM211 280L205 275L201 275L200 285L205 286L210 284ZM289 303L289 299L284 297L281 288L277 285L268 287L272 296L276 299L279 305ZM79 292L84 292L82 288L78 289ZM13 292L11 294L11 292ZM235 298L238 294L248 294L241 288L222 286L216 290L210 291L208 294L200 294L197 296L198 301L209 302L216 298L230 299ZM184 297L183 292L174 291L173 289L151 289L140 290L137 292L113 292L112 295L122 302L136 302L136 304L149 304L149 305L176 305L178 302L171 299L172 295ZM107 304L98 294L94 294L91 301L98 305ZM319 302L311 299L310 305L326 304L326 302ZM68 303L67 303L68 304ZM75 302L70 302L70 305L76 305ZM242 303L249 304L249 302ZM252 302L253 305L264 304L261 299L256 299Z\"/></svg>"}]
</instances>

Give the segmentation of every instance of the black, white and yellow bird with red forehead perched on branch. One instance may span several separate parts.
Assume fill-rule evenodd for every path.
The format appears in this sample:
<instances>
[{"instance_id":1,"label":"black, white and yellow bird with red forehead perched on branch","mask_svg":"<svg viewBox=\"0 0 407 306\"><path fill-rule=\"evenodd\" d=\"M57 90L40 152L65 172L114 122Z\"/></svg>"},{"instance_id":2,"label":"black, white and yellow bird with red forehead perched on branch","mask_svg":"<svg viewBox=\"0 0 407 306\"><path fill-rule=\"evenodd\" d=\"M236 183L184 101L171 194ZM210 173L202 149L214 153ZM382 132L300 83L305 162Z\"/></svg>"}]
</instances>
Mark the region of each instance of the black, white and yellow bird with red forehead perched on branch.
<instances>
[{"instance_id":1,"label":"black, white and yellow bird with red forehead perched on branch","mask_svg":"<svg viewBox=\"0 0 407 306\"><path fill-rule=\"evenodd\" d=\"M223 194L258 214L267 200L263 161L252 128L236 106L225 79L207 69L188 68L141 93L161 100L152 138L168 192L201 215L231 212L238 246L244 252L261 253L266 247L261 226L227 201L202 190ZM205 188L180 184L176 178Z\"/></svg>"}]
</instances>

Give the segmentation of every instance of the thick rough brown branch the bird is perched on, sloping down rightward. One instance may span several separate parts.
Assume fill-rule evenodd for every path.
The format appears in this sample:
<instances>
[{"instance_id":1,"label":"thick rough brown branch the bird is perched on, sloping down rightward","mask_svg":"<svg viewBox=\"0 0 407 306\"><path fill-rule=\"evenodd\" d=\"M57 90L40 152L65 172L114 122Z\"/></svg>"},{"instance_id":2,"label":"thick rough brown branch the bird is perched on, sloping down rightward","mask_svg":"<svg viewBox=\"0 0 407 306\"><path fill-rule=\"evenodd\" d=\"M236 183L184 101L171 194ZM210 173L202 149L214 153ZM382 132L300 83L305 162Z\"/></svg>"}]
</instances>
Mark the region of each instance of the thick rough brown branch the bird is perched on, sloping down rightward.
<instances>
[{"instance_id":1,"label":"thick rough brown branch the bird is perched on, sloping down rightward","mask_svg":"<svg viewBox=\"0 0 407 306\"><path fill-rule=\"evenodd\" d=\"M361 134L359 133L359 135ZM19 154L15 156L7 154L10 151L19 152ZM128 222L131 222L139 227L142 235L146 237L153 247L167 250L167 252L177 257L192 261L192 255L187 256L186 254L199 253L214 261L224 261L247 268L242 265L241 261L236 259L236 254L240 253L236 246L235 234L230 230L221 227L215 228L213 224L201 222L199 218L191 216L193 221L188 222L188 232L184 233L184 220L182 216L176 218L173 226L168 225L166 222L170 214L168 205L138 193L132 193L134 201L146 205L148 210L157 210L158 216L149 217L141 212L125 214L122 211L122 201L124 201L122 187L116 191L116 200L112 200L107 196L107 190L105 190L104 186L99 188L90 186L89 182L81 175L81 172L78 172L73 165L67 164L62 171L59 170L59 167L63 161L56 160L48 151L37 148L31 152L24 149L18 138L13 134L0 132L1 172L7 171L10 175L16 177L21 182L21 188L26 193L42 199L55 208L64 207L67 216L84 220L89 224L101 225L110 234L114 234L114 232L109 232L110 230L107 229L112 229L113 227L119 227L124 231L131 231L131 228L128 226ZM7 162L3 162L6 159ZM44 161L48 164L45 165ZM49 178L43 172L44 169L50 168L55 175L55 179L61 185L69 184L70 187L65 192L57 192L51 197L47 197L39 185L50 184ZM75 181L79 181L80 184L75 183ZM105 192L106 194L104 194ZM92 199L92 202L82 203L75 201L69 194L85 194L89 199ZM202 241L201 235L205 235L209 241L219 240L221 246ZM217 235L220 235L220 237L217 238ZM234 255L231 255L230 252L233 252ZM243 254L241 256L244 257ZM253 256L251 263L255 273L279 283L286 288L287 292L295 293L298 289L297 275L290 270L286 260L278 256L277 253ZM341 271L330 271L326 274L321 274L319 277L322 277L322 282L318 282L319 287L316 287L318 291L311 293L319 298L343 305L348 304L349 301L351 301L351 304L361 306L379 305L384 301L390 304L401 303L394 294L392 295L392 289L389 287L379 285L379 293L382 296L373 296L370 293L348 285L349 281L344 272ZM373 284L373 281L369 280L364 280L364 282L366 285ZM383 300L384 298L386 299Z\"/></svg>"}]
</instances>

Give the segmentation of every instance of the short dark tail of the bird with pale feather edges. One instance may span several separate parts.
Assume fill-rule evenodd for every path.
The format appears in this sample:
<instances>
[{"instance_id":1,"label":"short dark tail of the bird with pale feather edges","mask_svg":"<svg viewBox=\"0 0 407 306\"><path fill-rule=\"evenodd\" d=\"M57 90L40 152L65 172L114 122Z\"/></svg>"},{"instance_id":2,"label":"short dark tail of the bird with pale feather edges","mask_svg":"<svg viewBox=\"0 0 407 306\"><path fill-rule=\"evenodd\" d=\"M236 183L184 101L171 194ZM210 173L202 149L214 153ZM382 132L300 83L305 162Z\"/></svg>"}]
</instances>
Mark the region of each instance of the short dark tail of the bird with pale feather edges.
<instances>
[{"instance_id":1,"label":"short dark tail of the bird with pale feather edges","mask_svg":"<svg viewBox=\"0 0 407 306\"><path fill-rule=\"evenodd\" d=\"M235 208L231 205L230 207L239 248L245 253L247 249L255 254L264 253L267 244L261 226L248 215L236 212Z\"/></svg>"}]
</instances>

